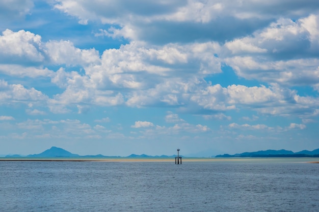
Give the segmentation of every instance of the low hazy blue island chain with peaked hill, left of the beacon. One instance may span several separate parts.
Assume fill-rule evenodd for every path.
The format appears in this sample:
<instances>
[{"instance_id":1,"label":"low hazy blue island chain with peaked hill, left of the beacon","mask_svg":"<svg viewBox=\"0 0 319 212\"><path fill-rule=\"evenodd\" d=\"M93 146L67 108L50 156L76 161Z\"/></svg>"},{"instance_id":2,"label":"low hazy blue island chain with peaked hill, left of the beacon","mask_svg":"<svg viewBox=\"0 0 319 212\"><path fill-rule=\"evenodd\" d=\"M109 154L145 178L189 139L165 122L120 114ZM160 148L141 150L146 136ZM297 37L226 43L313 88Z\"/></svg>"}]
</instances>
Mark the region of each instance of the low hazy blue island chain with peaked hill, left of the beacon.
<instances>
[{"instance_id":1,"label":"low hazy blue island chain with peaked hill, left of the beacon","mask_svg":"<svg viewBox=\"0 0 319 212\"><path fill-rule=\"evenodd\" d=\"M77 154L72 154L67 150L59 147L52 146L51 148L45 150L40 154L28 155L28 156L20 156L20 155L7 155L6 158L173 158L173 156L148 156L145 154L142 155L135 155L131 154L126 157L121 156L103 156L103 155L86 155L80 156Z\"/></svg>"}]
</instances>

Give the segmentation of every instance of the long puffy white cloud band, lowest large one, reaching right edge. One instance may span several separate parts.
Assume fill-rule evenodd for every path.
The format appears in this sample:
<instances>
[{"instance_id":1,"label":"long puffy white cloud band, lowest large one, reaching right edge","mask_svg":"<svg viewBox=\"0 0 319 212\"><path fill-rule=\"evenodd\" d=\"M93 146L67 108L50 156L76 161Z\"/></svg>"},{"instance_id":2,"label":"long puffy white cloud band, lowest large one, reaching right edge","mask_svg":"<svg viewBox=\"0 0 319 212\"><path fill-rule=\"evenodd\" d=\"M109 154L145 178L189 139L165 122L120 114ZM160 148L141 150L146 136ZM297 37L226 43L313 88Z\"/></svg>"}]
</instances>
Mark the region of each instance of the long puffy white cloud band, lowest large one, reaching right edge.
<instances>
[{"instance_id":1,"label":"long puffy white cloud band, lowest large one, reaching right edge","mask_svg":"<svg viewBox=\"0 0 319 212\"><path fill-rule=\"evenodd\" d=\"M220 84L209 85L204 81L196 82L191 79L187 83L174 81L167 80L165 84L158 84L155 88L133 92L132 96L128 96L126 104L138 107L169 106L169 101L164 101L163 98L171 95L174 97L171 105L184 108L185 111L192 108L193 112L195 109L196 112L206 110L206 113L220 113L246 108L272 115L310 115L314 114L319 105L317 98L300 96L296 90L278 84L271 84L269 87L234 84L222 87Z\"/></svg>"}]
</instances>

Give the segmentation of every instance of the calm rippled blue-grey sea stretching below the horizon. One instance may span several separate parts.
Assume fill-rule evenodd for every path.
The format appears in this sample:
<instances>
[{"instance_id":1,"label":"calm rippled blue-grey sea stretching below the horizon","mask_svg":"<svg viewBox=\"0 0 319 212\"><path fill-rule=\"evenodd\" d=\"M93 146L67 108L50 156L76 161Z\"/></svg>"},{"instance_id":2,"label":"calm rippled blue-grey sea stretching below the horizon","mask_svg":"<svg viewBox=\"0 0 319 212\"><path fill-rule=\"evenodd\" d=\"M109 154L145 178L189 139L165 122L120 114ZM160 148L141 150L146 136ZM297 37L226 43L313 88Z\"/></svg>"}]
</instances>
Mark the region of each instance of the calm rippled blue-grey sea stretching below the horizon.
<instances>
[{"instance_id":1,"label":"calm rippled blue-grey sea stretching below the horizon","mask_svg":"<svg viewBox=\"0 0 319 212\"><path fill-rule=\"evenodd\" d=\"M319 211L319 164L0 161L0 211Z\"/></svg>"}]
</instances>

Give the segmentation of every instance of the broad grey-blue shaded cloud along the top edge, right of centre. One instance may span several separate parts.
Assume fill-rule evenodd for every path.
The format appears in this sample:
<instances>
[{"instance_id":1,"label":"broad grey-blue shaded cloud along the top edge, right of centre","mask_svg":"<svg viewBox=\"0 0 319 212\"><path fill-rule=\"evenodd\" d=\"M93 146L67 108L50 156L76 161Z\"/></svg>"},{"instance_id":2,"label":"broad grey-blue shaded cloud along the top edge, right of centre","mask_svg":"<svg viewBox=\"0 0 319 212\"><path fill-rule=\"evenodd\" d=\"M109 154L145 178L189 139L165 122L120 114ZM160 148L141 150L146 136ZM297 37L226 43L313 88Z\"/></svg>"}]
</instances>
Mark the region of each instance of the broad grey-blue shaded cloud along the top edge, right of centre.
<instances>
[{"instance_id":1,"label":"broad grey-blue shaded cloud along the top edge, right of centre","mask_svg":"<svg viewBox=\"0 0 319 212\"><path fill-rule=\"evenodd\" d=\"M315 14L317 4L313 0L303 4L297 0L289 3L271 1L267 4L252 0L236 4L230 0L139 0L134 5L129 1L118 1L116 4L93 1L89 4L60 0L55 8L78 18L82 24L90 21L111 24L109 29L102 31L113 38L123 36L134 41L167 44L211 39L223 42L241 38L282 16L298 19L309 13Z\"/></svg>"}]
</instances>

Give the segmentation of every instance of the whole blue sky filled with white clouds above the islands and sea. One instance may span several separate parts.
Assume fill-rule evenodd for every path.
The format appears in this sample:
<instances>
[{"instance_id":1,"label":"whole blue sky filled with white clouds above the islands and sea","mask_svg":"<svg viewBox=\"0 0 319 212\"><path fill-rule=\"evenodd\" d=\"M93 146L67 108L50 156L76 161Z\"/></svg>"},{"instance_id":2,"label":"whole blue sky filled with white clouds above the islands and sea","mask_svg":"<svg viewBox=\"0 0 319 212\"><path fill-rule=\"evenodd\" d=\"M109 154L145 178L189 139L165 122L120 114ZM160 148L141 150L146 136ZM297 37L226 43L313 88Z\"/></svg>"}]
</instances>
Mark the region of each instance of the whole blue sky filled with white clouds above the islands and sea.
<instances>
[{"instance_id":1,"label":"whole blue sky filled with white clouds above the islands and sea","mask_svg":"<svg viewBox=\"0 0 319 212\"><path fill-rule=\"evenodd\" d=\"M319 148L317 0L1 0L0 155Z\"/></svg>"}]
</instances>

